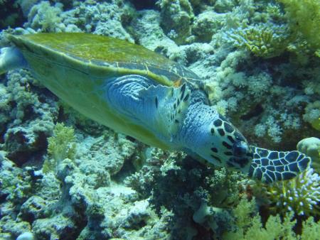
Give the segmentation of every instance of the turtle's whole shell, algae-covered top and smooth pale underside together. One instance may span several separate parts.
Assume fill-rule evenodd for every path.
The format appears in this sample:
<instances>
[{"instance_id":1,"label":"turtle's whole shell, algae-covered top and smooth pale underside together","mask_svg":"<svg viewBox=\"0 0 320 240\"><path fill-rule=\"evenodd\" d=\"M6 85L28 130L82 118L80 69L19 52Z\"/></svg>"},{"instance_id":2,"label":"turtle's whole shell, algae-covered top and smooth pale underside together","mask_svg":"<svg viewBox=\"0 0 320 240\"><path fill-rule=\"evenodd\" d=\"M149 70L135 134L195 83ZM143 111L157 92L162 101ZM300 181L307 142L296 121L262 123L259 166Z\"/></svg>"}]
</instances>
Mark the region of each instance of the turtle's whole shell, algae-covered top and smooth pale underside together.
<instances>
[{"instance_id":1,"label":"turtle's whole shell, algae-covered top and smooth pale underside together","mask_svg":"<svg viewBox=\"0 0 320 240\"><path fill-rule=\"evenodd\" d=\"M145 126L134 124L105 101L106 81L143 75L157 84L191 89L201 80L190 70L146 48L87 33L37 33L9 36L28 68L45 87L83 115L151 146L171 149ZM199 83L198 83L199 82Z\"/></svg>"}]
</instances>

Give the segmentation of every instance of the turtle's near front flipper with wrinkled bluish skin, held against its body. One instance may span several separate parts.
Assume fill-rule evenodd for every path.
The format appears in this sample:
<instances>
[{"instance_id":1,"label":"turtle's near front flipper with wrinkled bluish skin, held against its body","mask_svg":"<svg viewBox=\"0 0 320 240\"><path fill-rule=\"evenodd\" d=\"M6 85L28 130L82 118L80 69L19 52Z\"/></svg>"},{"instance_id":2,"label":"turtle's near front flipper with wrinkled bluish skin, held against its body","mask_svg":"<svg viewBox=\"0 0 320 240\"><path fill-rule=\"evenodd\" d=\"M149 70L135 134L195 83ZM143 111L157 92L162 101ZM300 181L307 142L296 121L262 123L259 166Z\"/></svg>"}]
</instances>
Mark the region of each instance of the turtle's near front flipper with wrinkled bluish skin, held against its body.
<instances>
[{"instance_id":1,"label":"turtle's near front flipper with wrinkled bluish skin, held against its body","mask_svg":"<svg viewBox=\"0 0 320 240\"><path fill-rule=\"evenodd\" d=\"M124 75L106 80L102 89L110 108L117 109L127 123L140 127L124 133L152 146L179 148L174 140L191 98L186 84L167 87L141 75Z\"/></svg>"}]
</instances>

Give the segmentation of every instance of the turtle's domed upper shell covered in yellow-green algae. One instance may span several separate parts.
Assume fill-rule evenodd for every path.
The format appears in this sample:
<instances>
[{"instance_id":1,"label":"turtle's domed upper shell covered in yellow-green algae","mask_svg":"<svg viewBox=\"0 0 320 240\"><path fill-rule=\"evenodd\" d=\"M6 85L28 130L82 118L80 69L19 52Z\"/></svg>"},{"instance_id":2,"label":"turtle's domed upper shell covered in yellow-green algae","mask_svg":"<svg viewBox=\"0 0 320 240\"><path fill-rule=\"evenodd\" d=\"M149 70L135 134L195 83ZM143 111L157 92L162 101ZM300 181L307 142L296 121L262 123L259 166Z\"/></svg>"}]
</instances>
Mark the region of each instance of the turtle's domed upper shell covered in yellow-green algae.
<instances>
[{"instance_id":1,"label":"turtle's domed upper shell covered in yellow-green algae","mask_svg":"<svg viewBox=\"0 0 320 240\"><path fill-rule=\"evenodd\" d=\"M63 58L64 65L91 75L144 75L174 87L188 82L198 88L202 82L188 68L125 40L87 33L37 33L9 38L25 53L56 62Z\"/></svg>"}]
</instances>

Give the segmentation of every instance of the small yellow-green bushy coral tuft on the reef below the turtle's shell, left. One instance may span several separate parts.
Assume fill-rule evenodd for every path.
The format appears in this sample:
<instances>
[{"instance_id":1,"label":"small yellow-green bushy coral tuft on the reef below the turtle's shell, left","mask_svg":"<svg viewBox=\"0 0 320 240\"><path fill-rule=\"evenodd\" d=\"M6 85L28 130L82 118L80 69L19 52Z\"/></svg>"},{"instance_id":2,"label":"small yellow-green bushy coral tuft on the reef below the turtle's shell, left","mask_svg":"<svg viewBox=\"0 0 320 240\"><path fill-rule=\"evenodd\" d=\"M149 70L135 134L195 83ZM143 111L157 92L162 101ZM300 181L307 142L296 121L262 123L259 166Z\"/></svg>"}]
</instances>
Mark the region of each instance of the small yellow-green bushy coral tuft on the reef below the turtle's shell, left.
<instances>
[{"instance_id":1,"label":"small yellow-green bushy coral tuft on the reef below the turtle's shell, left","mask_svg":"<svg viewBox=\"0 0 320 240\"><path fill-rule=\"evenodd\" d=\"M73 128L56 124L53 136L48 138L49 159L43 163L43 172L53 170L63 159L75 157L75 133Z\"/></svg>"}]
</instances>

